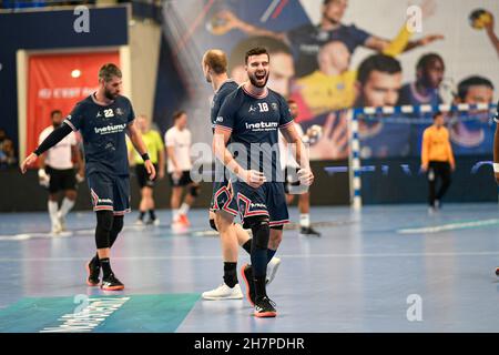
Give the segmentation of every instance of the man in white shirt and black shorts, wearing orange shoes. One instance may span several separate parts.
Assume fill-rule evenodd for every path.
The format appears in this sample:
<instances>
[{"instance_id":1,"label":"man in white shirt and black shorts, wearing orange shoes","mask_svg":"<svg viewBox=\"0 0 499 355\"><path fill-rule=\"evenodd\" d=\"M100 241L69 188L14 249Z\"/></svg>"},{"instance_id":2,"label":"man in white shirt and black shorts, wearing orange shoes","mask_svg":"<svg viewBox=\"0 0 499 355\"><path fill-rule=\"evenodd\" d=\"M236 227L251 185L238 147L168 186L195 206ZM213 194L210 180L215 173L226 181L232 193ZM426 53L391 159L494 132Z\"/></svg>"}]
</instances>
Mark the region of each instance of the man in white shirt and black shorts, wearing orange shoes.
<instances>
[{"instance_id":1,"label":"man in white shirt and black shorts, wearing orange shoes","mask_svg":"<svg viewBox=\"0 0 499 355\"><path fill-rule=\"evenodd\" d=\"M164 135L167 173L172 183L172 222L174 225L189 226L187 212L200 193L200 185L191 179L191 131L187 129L187 114L185 111L177 111L173 114L173 121L174 125ZM181 205L184 187L189 192Z\"/></svg>"}]
</instances>

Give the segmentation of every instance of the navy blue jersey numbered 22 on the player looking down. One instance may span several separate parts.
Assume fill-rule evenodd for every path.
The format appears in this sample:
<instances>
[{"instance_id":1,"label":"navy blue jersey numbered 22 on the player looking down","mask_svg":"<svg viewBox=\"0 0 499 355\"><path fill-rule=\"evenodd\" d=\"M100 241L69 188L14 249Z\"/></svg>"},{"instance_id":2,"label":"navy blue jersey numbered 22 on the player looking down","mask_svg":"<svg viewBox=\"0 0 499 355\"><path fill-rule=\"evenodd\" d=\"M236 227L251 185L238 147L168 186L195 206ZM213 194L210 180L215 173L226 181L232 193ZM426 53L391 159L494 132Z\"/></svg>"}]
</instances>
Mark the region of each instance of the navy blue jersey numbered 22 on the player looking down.
<instances>
[{"instance_id":1,"label":"navy blue jersey numbered 22 on the player looking down","mask_svg":"<svg viewBox=\"0 0 499 355\"><path fill-rule=\"evenodd\" d=\"M132 103L125 97L109 105L95 103L92 95L77 103L64 122L83 136L88 175L129 175L125 132L134 119Z\"/></svg>"}]
</instances>

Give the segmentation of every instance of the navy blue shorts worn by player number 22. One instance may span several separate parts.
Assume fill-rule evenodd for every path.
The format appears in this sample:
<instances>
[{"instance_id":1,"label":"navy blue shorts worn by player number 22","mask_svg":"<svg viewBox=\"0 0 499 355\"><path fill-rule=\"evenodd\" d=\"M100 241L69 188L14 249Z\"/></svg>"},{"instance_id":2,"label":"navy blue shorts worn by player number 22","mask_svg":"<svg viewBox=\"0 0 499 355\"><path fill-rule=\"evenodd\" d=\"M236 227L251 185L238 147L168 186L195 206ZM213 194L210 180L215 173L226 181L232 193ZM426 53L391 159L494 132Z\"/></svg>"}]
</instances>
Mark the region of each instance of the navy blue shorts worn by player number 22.
<instances>
[{"instance_id":1,"label":"navy blue shorts worn by player number 22","mask_svg":"<svg viewBox=\"0 0 499 355\"><path fill-rule=\"evenodd\" d=\"M130 210L130 176L92 173L86 176L93 211L113 211L123 215Z\"/></svg>"}]
</instances>

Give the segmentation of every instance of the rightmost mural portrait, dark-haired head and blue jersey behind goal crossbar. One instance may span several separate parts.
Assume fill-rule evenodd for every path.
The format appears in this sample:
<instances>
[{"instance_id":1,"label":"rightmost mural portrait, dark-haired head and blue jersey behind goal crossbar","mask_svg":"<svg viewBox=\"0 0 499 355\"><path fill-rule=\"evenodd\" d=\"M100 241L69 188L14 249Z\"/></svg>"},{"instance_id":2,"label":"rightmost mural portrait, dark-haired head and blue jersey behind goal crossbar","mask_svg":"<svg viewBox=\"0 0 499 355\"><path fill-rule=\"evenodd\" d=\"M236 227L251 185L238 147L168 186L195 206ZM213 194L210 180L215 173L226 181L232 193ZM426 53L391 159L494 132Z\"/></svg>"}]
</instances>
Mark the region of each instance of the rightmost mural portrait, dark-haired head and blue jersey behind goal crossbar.
<instances>
[{"instance_id":1,"label":"rightmost mural portrait, dark-haired head and blue jersey behind goal crossbar","mask_svg":"<svg viewBox=\"0 0 499 355\"><path fill-rule=\"evenodd\" d=\"M468 103L491 104L493 100L493 84L482 77L469 77L458 84L455 104ZM450 141L456 154L488 153L493 142L493 132L489 125L489 110L470 109L457 112L461 118L452 120L450 125ZM462 118L475 119L464 121Z\"/></svg>"}]
</instances>

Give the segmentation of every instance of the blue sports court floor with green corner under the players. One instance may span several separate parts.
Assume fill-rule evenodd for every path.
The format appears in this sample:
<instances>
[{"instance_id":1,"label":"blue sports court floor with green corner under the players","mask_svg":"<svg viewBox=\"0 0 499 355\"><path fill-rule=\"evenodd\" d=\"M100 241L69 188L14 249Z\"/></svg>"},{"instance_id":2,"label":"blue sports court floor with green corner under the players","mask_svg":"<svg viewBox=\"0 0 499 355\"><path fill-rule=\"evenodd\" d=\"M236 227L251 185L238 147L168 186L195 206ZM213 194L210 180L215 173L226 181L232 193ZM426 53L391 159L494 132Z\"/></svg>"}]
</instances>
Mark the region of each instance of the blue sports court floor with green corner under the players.
<instances>
[{"instance_id":1,"label":"blue sports court floor with green corner under the players","mask_svg":"<svg viewBox=\"0 0 499 355\"><path fill-rule=\"evenodd\" d=\"M126 288L104 293L84 283L92 212L71 213L72 232L55 237L45 213L0 214L0 332L499 332L497 204L447 204L435 215L425 205L313 207L323 235L285 230L268 286L278 315L266 320L246 300L201 300L222 282L206 211L190 212L185 234L169 227L170 211L159 216L155 227L125 216L112 264ZM95 304L91 326L68 327Z\"/></svg>"}]
</instances>

